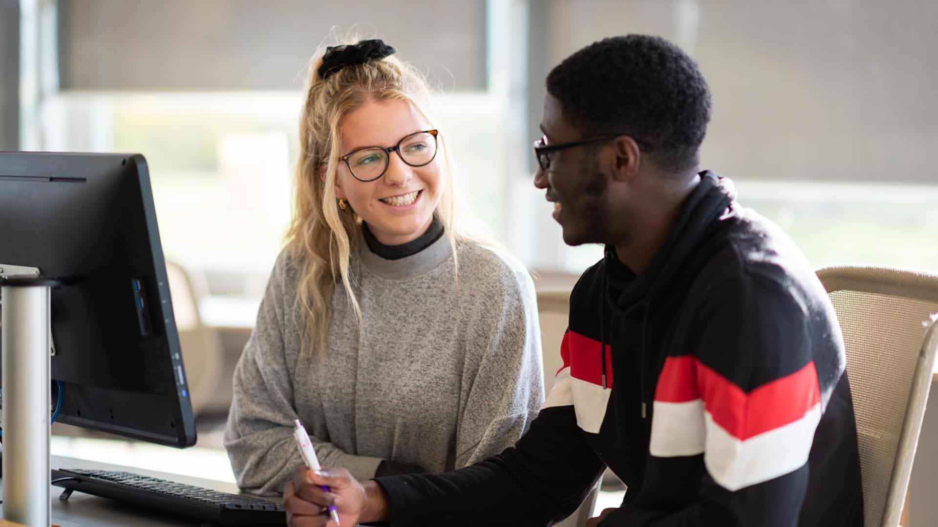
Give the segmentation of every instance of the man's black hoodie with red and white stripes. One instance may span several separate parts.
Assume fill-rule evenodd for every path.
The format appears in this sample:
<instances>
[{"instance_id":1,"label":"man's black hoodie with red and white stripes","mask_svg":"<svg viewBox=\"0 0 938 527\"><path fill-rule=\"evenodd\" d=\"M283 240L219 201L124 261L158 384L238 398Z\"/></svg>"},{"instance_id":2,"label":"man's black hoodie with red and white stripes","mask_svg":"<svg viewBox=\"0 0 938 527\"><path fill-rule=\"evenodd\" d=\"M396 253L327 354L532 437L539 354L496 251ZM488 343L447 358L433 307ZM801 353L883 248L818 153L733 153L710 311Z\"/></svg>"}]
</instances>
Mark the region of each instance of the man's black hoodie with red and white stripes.
<instances>
[{"instance_id":1,"label":"man's black hoodie with red and white stripes","mask_svg":"<svg viewBox=\"0 0 938 527\"><path fill-rule=\"evenodd\" d=\"M702 173L635 276L607 248L570 296L545 408L513 448L378 478L392 525L548 525L604 465L613 526L863 525L853 402L824 287L777 226Z\"/></svg>"}]
</instances>

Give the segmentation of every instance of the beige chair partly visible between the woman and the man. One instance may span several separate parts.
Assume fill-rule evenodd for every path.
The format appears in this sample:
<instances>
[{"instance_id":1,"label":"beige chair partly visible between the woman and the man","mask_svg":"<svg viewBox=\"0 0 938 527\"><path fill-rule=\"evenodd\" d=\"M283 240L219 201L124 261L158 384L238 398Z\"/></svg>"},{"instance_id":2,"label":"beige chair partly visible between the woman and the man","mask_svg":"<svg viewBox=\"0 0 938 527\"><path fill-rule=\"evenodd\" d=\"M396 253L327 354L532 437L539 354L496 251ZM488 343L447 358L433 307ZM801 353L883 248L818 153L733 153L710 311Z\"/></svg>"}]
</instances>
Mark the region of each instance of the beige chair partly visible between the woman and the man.
<instances>
[{"instance_id":1,"label":"beige chair partly visible between the woman and the man","mask_svg":"<svg viewBox=\"0 0 938 527\"><path fill-rule=\"evenodd\" d=\"M541 348L543 350L544 391L550 393L553 379L557 370L563 366L560 358L560 342L564 339L567 330L569 314L570 290L567 288L551 288L537 291L537 316L540 318ZM609 469L606 469L606 473ZM612 474L613 477L614 474ZM560 527L582 527L587 519L593 517L593 508L596 506L599 486L605 477L600 478L586 499L573 515L555 525ZM618 481L616 478L614 481ZM621 485L621 482L620 482Z\"/></svg>"}]
</instances>

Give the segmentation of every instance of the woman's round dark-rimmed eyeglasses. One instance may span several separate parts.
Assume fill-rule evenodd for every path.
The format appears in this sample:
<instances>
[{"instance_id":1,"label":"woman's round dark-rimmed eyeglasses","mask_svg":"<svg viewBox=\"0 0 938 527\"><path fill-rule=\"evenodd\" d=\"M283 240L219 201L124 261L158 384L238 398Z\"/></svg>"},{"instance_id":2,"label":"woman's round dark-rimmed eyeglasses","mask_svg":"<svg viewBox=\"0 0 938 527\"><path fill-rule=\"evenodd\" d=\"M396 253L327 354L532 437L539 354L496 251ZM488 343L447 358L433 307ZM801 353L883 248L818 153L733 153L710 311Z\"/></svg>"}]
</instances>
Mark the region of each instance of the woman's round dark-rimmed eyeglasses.
<instances>
[{"instance_id":1,"label":"woman's round dark-rimmed eyeglasses","mask_svg":"<svg viewBox=\"0 0 938 527\"><path fill-rule=\"evenodd\" d=\"M369 182L380 178L387 172L390 164L391 152L397 152L401 161L412 167L422 167L430 164L436 158L437 130L423 130L414 132L390 148L381 146L366 146L358 148L342 156L349 172L358 181Z\"/></svg>"}]
</instances>

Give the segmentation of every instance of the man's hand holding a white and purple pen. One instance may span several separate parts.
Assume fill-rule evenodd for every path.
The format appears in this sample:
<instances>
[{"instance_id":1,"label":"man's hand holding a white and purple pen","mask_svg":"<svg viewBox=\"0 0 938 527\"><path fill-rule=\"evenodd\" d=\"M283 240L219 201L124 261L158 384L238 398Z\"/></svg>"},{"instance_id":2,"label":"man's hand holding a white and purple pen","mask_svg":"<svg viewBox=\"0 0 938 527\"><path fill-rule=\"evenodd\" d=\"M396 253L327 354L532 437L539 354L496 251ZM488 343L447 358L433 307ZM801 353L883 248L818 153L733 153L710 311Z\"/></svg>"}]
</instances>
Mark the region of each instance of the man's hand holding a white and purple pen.
<instances>
[{"instance_id":1,"label":"man's hand holding a white and purple pen","mask_svg":"<svg viewBox=\"0 0 938 527\"><path fill-rule=\"evenodd\" d=\"M321 489L329 488L329 491ZM367 493L345 469L311 471L299 467L294 480L283 488L283 506L290 527L338 527L326 507L335 505L342 527L358 523Z\"/></svg>"}]
</instances>

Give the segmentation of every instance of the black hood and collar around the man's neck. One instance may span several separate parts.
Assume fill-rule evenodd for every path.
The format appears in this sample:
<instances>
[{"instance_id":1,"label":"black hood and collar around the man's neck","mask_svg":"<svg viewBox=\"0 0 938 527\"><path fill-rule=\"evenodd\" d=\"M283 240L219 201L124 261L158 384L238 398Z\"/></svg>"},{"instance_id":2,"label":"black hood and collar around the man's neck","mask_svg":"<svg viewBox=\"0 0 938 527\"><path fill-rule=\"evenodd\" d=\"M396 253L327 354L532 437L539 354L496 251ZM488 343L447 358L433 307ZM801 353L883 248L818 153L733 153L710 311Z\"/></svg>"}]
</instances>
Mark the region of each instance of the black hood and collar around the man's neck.
<instances>
[{"instance_id":1,"label":"black hood and collar around the man's neck","mask_svg":"<svg viewBox=\"0 0 938 527\"><path fill-rule=\"evenodd\" d=\"M671 232L641 275L636 276L619 261L613 246L606 246L606 294L616 314L626 315L638 305L653 305L666 294L688 264L688 254L708 238L706 234L717 228L719 218L728 212L736 197L733 182L710 171L700 176L700 184L681 206Z\"/></svg>"}]
</instances>

